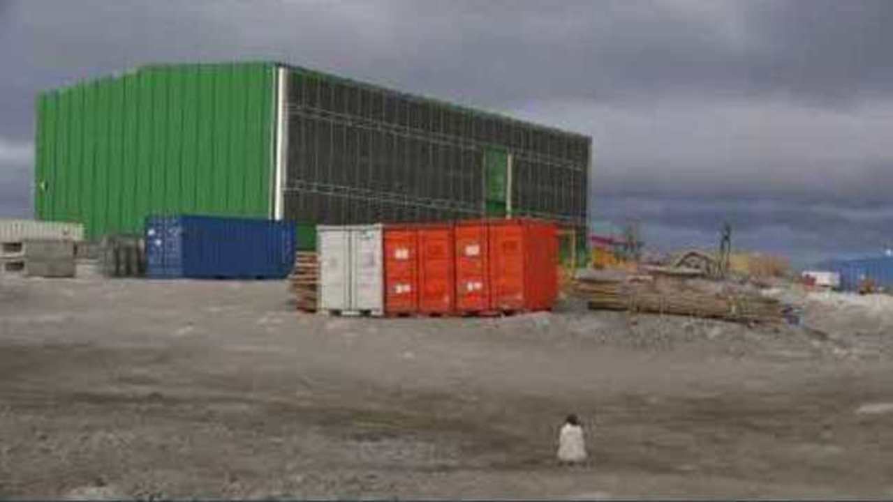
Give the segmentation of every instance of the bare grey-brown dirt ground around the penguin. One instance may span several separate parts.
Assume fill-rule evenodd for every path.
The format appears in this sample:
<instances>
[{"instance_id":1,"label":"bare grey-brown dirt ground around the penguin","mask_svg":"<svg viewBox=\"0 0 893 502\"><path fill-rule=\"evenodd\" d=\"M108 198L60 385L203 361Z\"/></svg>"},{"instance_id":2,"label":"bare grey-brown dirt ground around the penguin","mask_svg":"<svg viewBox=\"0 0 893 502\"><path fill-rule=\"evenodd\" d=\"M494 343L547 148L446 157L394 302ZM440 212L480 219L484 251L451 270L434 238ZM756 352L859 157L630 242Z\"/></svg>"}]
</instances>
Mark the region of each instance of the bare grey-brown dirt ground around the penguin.
<instances>
[{"instance_id":1,"label":"bare grey-brown dirt ground around the penguin","mask_svg":"<svg viewBox=\"0 0 893 502\"><path fill-rule=\"evenodd\" d=\"M0 281L0 498L893 497L893 316L799 300L807 327L748 329ZM567 468L571 412L593 458Z\"/></svg>"}]
</instances>

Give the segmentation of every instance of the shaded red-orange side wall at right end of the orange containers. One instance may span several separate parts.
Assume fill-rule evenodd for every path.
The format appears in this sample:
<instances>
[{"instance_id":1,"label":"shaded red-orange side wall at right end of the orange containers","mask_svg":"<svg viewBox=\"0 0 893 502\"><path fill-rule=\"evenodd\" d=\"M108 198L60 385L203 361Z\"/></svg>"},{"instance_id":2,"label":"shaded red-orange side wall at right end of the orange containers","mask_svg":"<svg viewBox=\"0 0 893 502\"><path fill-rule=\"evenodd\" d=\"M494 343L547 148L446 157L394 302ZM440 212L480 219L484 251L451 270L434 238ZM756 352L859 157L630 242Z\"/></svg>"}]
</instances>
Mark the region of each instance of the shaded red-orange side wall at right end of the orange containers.
<instances>
[{"instance_id":1,"label":"shaded red-orange side wall at right end of the orange containers","mask_svg":"<svg viewBox=\"0 0 893 502\"><path fill-rule=\"evenodd\" d=\"M531 223L527 232L524 264L527 309L549 310L558 297L558 235L555 225Z\"/></svg>"}]
</instances>

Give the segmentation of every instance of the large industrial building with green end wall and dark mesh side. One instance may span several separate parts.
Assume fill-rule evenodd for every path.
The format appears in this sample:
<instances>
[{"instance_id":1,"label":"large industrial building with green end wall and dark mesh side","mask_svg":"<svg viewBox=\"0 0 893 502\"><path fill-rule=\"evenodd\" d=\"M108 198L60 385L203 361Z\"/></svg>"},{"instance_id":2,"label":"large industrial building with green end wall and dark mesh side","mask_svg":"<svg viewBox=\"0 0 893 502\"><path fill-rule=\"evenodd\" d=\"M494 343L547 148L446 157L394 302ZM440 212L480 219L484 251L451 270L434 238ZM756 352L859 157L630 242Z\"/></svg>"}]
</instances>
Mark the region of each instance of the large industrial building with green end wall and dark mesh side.
<instances>
[{"instance_id":1,"label":"large industrial building with green end wall and dark mesh side","mask_svg":"<svg viewBox=\"0 0 893 502\"><path fill-rule=\"evenodd\" d=\"M41 93L35 212L87 234L174 213L346 224L516 215L585 235L591 139L274 62Z\"/></svg>"}]
</instances>

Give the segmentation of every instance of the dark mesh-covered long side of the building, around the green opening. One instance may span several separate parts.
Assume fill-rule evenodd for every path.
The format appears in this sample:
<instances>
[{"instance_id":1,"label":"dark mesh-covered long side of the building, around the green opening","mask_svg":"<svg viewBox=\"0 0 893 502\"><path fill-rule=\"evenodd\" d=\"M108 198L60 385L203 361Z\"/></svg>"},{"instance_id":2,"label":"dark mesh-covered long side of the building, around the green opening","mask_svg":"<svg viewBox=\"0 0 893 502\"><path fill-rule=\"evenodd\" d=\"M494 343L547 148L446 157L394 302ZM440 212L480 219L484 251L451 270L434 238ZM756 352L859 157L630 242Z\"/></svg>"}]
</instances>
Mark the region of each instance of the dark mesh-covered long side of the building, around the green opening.
<instances>
[{"instance_id":1,"label":"dark mesh-covered long side of the building, around the green opening","mask_svg":"<svg viewBox=\"0 0 893 502\"><path fill-rule=\"evenodd\" d=\"M513 155L518 214L585 226L588 138L294 70L285 217L326 224L475 218L483 152Z\"/></svg>"}]
</instances>

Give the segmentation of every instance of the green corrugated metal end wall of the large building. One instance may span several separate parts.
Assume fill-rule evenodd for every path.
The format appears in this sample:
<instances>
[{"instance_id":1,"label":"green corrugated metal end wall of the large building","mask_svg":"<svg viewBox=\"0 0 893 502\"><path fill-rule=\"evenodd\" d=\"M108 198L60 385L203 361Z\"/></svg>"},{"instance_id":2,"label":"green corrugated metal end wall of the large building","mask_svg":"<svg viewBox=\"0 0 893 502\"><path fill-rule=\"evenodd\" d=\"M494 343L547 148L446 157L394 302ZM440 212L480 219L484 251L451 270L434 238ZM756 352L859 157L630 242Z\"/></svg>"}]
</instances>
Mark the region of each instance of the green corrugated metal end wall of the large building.
<instances>
[{"instance_id":1,"label":"green corrugated metal end wall of the large building","mask_svg":"<svg viewBox=\"0 0 893 502\"><path fill-rule=\"evenodd\" d=\"M150 214L267 217L274 65L161 65L38 96L35 210L89 236Z\"/></svg>"}]
</instances>

